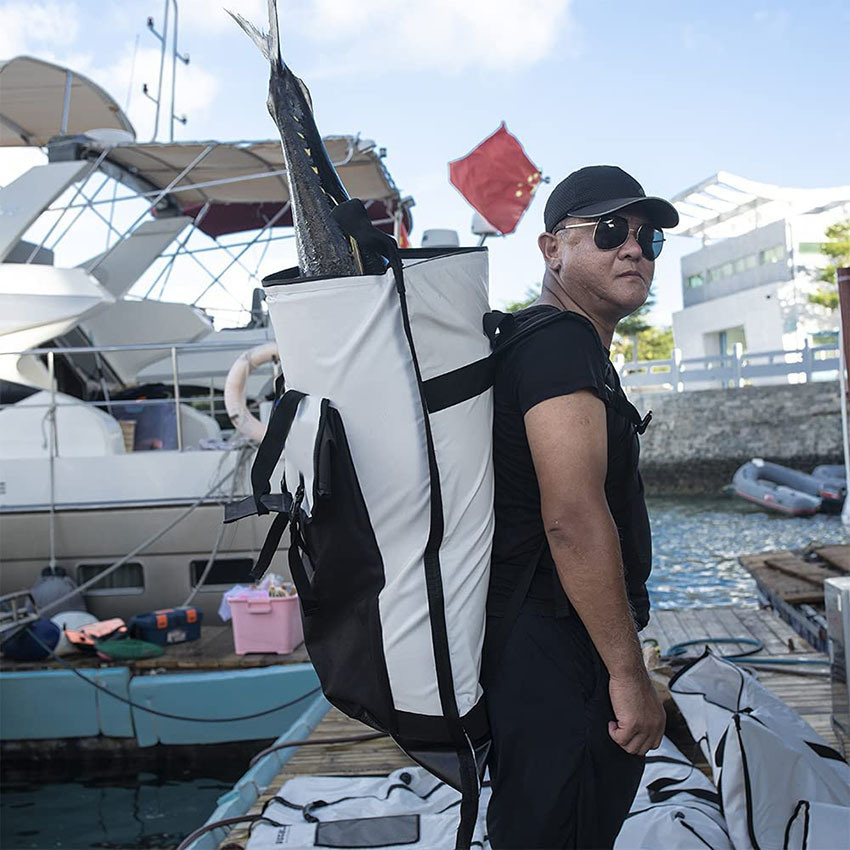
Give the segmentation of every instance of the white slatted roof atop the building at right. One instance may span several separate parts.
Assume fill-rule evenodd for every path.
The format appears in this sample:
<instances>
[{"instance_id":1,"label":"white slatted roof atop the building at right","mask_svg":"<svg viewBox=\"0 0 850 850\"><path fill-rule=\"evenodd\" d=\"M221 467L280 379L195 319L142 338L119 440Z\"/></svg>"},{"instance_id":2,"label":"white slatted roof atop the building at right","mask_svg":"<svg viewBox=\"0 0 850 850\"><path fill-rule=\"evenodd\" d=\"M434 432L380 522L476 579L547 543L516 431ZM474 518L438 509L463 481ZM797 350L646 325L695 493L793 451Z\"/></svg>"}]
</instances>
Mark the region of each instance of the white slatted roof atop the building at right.
<instances>
[{"instance_id":1,"label":"white slatted roof atop the building at right","mask_svg":"<svg viewBox=\"0 0 850 850\"><path fill-rule=\"evenodd\" d=\"M788 216L850 203L850 186L792 189L718 171L670 200L680 219L672 233L727 239Z\"/></svg>"}]
</instances>

